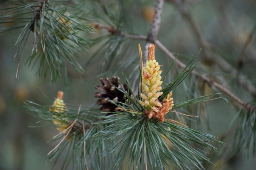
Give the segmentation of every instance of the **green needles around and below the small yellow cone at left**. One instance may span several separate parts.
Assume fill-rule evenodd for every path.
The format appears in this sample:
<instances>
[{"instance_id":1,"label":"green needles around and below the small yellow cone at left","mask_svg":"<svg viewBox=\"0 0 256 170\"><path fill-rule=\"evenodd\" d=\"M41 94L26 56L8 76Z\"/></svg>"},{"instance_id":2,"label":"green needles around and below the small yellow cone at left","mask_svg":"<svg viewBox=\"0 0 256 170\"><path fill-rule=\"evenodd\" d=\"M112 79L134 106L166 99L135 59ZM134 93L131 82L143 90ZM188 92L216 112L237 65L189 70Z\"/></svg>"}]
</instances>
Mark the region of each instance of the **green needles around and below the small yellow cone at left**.
<instances>
[{"instance_id":1,"label":"green needles around and below the small yellow cone at left","mask_svg":"<svg viewBox=\"0 0 256 170\"><path fill-rule=\"evenodd\" d=\"M109 143L105 139L96 140L92 138L94 134L103 128L103 126L91 125L93 122L98 121L96 116L101 114L98 109L77 108L67 104L67 111L57 113L50 111L50 108L53 108L52 106L40 106L29 101L25 104L29 113L34 115L36 112L38 114L37 116L41 121L37 123L42 121L62 121L64 125L71 127L67 130L69 133L59 133L52 140L48 141L59 140L60 142L57 145L58 147L49 152L47 161L55 160L54 164L56 164L60 155L64 152L66 156L64 160L61 160L63 162L62 169L66 169L70 164L72 164L73 169L85 169L87 167L101 169L100 167L106 167L109 160L102 159L101 154L105 152L105 147ZM101 162L101 164L98 162Z\"/></svg>"}]
</instances>

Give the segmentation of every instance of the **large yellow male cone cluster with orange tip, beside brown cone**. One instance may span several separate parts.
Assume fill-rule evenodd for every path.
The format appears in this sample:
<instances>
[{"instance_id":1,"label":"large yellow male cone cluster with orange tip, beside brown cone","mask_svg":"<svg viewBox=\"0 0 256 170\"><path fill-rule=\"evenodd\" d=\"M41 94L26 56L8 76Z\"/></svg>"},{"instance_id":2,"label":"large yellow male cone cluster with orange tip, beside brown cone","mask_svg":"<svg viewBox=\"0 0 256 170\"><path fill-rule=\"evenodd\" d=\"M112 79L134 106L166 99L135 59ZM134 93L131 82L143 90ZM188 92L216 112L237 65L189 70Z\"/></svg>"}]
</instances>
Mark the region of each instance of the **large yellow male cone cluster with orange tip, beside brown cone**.
<instances>
[{"instance_id":1,"label":"large yellow male cone cluster with orange tip, beside brown cone","mask_svg":"<svg viewBox=\"0 0 256 170\"><path fill-rule=\"evenodd\" d=\"M140 101L140 104L146 108L145 113L149 119L155 117L160 122L164 122L166 113L172 109L174 104L172 92L162 102L158 100L163 94L163 92L160 92L162 90L162 77L160 76L162 70L160 70L160 65L155 59L155 48L154 44L148 46L148 60L142 69L142 93L140 94L142 101Z\"/></svg>"}]
</instances>

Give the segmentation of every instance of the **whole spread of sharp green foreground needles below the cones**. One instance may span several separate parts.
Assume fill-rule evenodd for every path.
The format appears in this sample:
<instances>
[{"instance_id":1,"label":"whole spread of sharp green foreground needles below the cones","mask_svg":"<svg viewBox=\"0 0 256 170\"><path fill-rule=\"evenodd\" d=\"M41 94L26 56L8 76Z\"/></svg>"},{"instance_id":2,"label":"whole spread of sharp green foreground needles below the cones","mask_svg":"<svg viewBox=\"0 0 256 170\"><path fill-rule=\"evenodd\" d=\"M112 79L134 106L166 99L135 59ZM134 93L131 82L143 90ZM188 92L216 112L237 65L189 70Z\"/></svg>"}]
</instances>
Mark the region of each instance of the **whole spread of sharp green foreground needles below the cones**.
<instances>
[{"instance_id":1,"label":"whole spread of sharp green foreground needles below the cones","mask_svg":"<svg viewBox=\"0 0 256 170\"><path fill-rule=\"evenodd\" d=\"M173 82L178 85L180 82L176 81L179 81L179 79L175 79ZM72 159L74 166L88 166L89 169L102 169L102 167L144 169L147 166L152 169L156 166L164 169L170 167L170 162L176 168L190 169L190 166L192 166L204 169L202 161L210 162L204 149L216 150L212 146L213 142L219 142L216 137L190 129L172 119L167 119L164 123L160 123L154 118L148 119L143 112L143 107L138 102L139 97L130 96L130 94L134 96L134 92L128 83L128 79L126 79L126 86L128 92L123 87L115 87L124 93L125 103L109 100L109 102L116 104L120 111L100 112L98 109L80 110L71 107L68 108L65 114L57 115L57 120L68 120L69 125L76 119L79 120L78 122L86 122L86 125L82 126L82 123L79 123L79 128L72 127L74 130L71 130L68 137L71 137L72 140L76 139L76 141L67 141L64 138L65 142L61 143L60 146L62 147L66 147L68 142L70 142L70 146L76 146L68 151L67 156L73 153L78 156L77 159L76 157L67 157L66 159ZM207 100L209 96L182 102L177 104L177 108ZM43 121L54 120L53 115L56 115L56 113L49 111L49 107L34 105L36 107L28 104L26 106L28 111L38 113ZM38 107L43 109L38 109ZM86 154L81 151L83 145L87 146ZM52 152L49 159L56 157L63 150L62 147L58 147L56 151ZM96 166L93 163L94 161L101 163ZM90 163L84 165L85 162ZM106 162L109 164L106 164Z\"/></svg>"}]
</instances>

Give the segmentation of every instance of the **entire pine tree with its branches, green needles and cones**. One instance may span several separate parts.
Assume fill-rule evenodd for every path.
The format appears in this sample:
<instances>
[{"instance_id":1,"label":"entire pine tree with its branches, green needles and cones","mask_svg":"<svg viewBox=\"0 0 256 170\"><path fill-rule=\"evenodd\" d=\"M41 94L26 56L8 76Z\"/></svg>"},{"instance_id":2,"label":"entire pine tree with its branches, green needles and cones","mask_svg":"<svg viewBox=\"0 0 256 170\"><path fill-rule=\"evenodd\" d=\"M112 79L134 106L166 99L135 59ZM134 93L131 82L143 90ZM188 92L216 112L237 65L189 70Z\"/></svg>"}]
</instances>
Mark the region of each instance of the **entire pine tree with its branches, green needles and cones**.
<instances>
[{"instance_id":1,"label":"entire pine tree with its branches, green needles and cones","mask_svg":"<svg viewBox=\"0 0 256 170\"><path fill-rule=\"evenodd\" d=\"M60 80L68 86L70 66L80 77L89 72L100 78L101 85L95 84L98 91L90 96L95 101L91 106L65 103L62 91L56 92L55 100L49 99L48 106L24 102L29 113L58 131L51 140L58 143L49 151L48 161L64 154L65 160L58 160L62 169L214 169L236 154L255 156L255 100L244 102L235 87L222 82L224 76L210 74L204 67L238 75L238 86L255 99L255 82L241 71L255 26L236 69L214 51L190 13L190 2L183 0L156 0L154 9L145 8L143 15L150 22L147 35L133 29L137 23L129 15L142 6L141 1L0 3L0 24L4 25L0 32L20 31L15 43L16 78L24 57L28 66L38 64L38 75L52 83ZM158 40L164 4L175 6L191 26L202 48L195 56L172 53ZM33 41L31 46L29 41ZM82 53L93 48L96 52L89 59L86 56L82 66ZM206 88L212 94L205 94ZM230 130L219 137L203 133L202 124L209 121L206 101L222 99L238 110Z\"/></svg>"}]
</instances>

